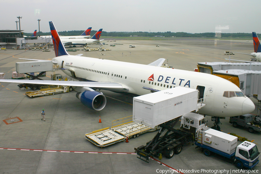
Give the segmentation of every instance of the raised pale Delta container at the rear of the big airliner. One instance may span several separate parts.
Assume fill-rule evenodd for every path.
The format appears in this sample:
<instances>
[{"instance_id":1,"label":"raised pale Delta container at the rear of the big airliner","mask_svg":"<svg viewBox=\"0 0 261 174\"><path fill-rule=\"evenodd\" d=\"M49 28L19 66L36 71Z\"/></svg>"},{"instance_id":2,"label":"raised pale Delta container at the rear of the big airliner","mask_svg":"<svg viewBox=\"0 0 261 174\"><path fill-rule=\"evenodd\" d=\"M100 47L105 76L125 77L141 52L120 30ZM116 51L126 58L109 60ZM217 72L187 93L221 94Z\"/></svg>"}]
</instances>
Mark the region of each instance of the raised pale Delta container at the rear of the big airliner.
<instances>
[{"instance_id":1,"label":"raised pale Delta container at the rear of the big airliner","mask_svg":"<svg viewBox=\"0 0 261 174\"><path fill-rule=\"evenodd\" d=\"M52 71L52 61L28 61L28 62L16 62L17 73L35 73Z\"/></svg>"}]
</instances>

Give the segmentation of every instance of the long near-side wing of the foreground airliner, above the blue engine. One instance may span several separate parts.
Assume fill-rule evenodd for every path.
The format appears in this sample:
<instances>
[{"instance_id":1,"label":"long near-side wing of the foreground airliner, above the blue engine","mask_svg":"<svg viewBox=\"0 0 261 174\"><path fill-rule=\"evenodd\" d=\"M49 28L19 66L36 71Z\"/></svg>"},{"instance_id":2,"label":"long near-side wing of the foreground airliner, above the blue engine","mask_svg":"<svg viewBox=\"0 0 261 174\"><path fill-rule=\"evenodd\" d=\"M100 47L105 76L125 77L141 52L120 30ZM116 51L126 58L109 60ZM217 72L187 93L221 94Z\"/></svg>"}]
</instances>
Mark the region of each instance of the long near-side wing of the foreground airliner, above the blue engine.
<instances>
[{"instance_id":1,"label":"long near-side wing of the foreground airliner, above the blue engine","mask_svg":"<svg viewBox=\"0 0 261 174\"><path fill-rule=\"evenodd\" d=\"M122 91L123 86L114 82L95 82L95 81L55 81L55 80L16 80L16 79L0 79L0 82L7 83L26 83L26 84L43 84L43 85L64 85L79 86L103 90Z\"/></svg>"}]
</instances>

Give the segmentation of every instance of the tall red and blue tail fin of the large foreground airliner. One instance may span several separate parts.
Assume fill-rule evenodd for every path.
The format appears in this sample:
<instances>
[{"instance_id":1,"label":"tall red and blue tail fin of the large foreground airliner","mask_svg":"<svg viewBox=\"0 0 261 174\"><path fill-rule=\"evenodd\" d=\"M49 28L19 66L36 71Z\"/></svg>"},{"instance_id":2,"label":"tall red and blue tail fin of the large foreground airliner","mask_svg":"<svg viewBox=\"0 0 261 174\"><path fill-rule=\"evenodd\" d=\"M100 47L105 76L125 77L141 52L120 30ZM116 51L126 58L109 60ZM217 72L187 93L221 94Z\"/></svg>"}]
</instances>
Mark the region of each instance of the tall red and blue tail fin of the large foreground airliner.
<instances>
[{"instance_id":1,"label":"tall red and blue tail fin of the large foreground airliner","mask_svg":"<svg viewBox=\"0 0 261 174\"><path fill-rule=\"evenodd\" d=\"M59 34L53 25L53 22L49 22L50 25L50 30L52 34L52 42L53 42L53 47L55 50L55 56L63 56L63 55L69 55L66 49L64 48L64 44L61 42L61 39L59 37Z\"/></svg>"}]
</instances>

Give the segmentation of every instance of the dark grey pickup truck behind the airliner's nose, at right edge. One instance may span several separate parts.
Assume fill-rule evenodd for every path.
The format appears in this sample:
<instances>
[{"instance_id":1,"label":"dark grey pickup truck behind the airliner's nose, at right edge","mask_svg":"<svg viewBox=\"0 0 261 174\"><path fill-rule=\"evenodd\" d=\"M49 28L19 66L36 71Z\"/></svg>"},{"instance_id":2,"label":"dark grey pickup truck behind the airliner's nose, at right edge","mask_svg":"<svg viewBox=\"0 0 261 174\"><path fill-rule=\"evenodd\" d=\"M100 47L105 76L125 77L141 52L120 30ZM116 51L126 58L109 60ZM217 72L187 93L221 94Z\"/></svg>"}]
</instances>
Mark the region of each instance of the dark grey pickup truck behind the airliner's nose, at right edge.
<instances>
[{"instance_id":1,"label":"dark grey pickup truck behind the airliner's nose, at right edge","mask_svg":"<svg viewBox=\"0 0 261 174\"><path fill-rule=\"evenodd\" d=\"M260 121L255 121L252 114L230 117L229 123L235 128L239 126L247 128L250 133L254 133L255 131L261 132L261 123Z\"/></svg>"}]
</instances>

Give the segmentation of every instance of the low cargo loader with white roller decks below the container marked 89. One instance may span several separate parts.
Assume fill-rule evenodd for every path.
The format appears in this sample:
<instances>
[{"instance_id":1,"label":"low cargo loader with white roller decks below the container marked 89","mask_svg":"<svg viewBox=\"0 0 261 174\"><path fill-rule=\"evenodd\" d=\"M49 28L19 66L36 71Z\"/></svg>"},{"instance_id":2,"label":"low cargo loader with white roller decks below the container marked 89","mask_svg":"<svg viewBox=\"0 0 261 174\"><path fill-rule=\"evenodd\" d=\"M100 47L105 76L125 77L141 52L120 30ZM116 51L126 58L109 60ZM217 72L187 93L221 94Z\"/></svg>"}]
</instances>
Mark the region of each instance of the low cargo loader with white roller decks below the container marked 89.
<instances>
[{"instance_id":1,"label":"low cargo loader with white roller decks below the container marked 89","mask_svg":"<svg viewBox=\"0 0 261 174\"><path fill-rule=\"evenodd\" d=\"M126 138L136 138L143 133L156 131L157 128L158 126L151 128L136 122L128 122L119 126L113 126L111 129L104 128L86 133L85 138L96 146L106 147L124 141Z\"/></svg>"}]
</instances>

